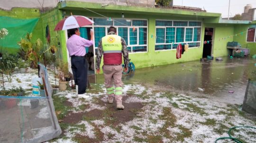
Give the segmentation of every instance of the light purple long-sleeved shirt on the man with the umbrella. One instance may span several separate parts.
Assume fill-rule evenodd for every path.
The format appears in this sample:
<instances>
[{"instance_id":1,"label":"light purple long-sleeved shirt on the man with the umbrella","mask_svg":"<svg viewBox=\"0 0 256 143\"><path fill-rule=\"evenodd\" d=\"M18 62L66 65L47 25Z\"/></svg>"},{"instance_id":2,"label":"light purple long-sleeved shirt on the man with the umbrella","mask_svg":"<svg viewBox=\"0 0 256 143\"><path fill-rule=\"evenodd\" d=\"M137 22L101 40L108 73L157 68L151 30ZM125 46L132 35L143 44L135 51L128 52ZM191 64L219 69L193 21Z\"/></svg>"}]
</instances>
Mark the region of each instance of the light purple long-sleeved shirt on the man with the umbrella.
<instances>
[{"instance_id":1,"label":"light purple long-sleeved shirt on the man with the umbrella","mask_svg":"<svg viewBox=\"0 0 256 143\"><path fill-rule=\"evenodd\" d=\"M76 34L73 34L67 40L67 50L69 52L69 56L84 56L86 54L84 47L89 47L93 45L93 41L84 39Z\"/></svg>"}]
</instances>

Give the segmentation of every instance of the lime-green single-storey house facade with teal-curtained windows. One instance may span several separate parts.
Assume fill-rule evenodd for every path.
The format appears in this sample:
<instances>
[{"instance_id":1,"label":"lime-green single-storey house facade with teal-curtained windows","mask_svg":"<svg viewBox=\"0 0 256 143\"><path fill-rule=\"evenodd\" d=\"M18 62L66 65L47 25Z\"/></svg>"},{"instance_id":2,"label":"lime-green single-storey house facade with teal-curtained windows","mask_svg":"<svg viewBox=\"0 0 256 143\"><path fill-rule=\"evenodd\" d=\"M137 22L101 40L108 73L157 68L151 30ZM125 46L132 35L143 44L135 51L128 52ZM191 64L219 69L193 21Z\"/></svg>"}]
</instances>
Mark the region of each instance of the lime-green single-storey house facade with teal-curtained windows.
<instances>
[{"instance_id":1,"label":"lime-green single-storey house facade with teal-curtained windows","mask_svg":"<svg viewBox=\"0 0 256 143\"><path fill-rule=\"evenodd\" d=\"M185 8L151 8L115 3L102 5L65 0L40 14L36 25L37 30L41 27L41 33L36 31L36 35L45 43L48 25L52 44L59 48L59 58L65 61L69 61L65 44L69 34L67 31L56 32L54 28L71 13L89 17L95 22L80 28L82 37L87 39L90 39L90 29L94 31L95 43L91 47L94 59L99 40L112 25L117 27L118 35L126 40L129 58L137 68L199 60L207 56L228 56L230 51L227 43L232 41L250 49L251 55L256 54L256 21L223 20L218 13ZM178 44L189 45L181 59L176 59Z\"/></svg>"}]
</instances>

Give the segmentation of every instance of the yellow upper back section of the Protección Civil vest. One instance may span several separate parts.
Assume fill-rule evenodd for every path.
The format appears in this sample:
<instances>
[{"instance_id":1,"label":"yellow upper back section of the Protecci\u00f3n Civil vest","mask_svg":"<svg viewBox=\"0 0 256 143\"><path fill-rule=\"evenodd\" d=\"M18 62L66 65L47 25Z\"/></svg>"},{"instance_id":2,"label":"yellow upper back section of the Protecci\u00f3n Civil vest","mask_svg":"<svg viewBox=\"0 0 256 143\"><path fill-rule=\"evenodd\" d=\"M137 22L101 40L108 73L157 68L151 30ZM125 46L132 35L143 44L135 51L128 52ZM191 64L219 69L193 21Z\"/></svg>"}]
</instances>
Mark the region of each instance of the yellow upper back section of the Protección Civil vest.
<instances>
[{"instance_id":1,"label":"yellow upper back section of the Protecci\u00f3n Civil vest","mask_svg":"<svg viewBox=\"0 0 256 143\"><path fill-rule=\"evenodd\" d=\"M122 52L121 37L118 35L110 34L102 38L103 53L116 53L116 51ZM113 52L110 52L113 51Z\"/></svg>"}]
</instances>

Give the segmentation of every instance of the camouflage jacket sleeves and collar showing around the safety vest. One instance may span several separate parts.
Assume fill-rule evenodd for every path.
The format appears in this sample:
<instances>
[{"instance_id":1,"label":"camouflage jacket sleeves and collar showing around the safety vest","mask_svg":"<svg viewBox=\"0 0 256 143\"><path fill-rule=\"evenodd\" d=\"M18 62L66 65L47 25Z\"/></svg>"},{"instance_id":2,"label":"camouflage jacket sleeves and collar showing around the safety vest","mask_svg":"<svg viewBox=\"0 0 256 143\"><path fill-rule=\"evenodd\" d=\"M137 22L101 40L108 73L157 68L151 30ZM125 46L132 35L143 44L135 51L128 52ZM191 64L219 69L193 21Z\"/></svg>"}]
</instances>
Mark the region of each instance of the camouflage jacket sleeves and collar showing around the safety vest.
<instances>
[{"instance_id":1,"label":"camouflage jacket sleeves and collar showing around the safety vest","mask_svg":"<svg viewBox=\"0 0 256 143\"><path fill-rule=\"evenodd\" d=\"M114 34L114 33L110 33ZM122 53L124 57L124 63L125 67L128 67L129 65L129 55L128 55L128 50L126 46L126 42L123 38L121 38L121 43L122 43ZM97 51L97 58L96 58L96 69L99 69L101 66L101 57L103 55L103 48L102 48L102 40L99 41L99 46L98 46L98 51Z\"/></svg>"}]
</instances>

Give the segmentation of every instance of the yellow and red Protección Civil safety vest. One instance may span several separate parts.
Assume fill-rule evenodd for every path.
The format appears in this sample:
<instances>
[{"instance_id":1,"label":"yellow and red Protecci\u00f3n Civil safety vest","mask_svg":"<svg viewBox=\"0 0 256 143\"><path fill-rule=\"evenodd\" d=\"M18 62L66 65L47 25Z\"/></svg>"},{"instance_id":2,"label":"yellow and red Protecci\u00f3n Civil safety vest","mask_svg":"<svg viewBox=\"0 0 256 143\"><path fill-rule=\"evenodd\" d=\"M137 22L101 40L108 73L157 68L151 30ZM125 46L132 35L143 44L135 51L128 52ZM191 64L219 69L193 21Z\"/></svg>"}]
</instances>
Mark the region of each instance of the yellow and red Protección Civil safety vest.
<instances>
[{"instance_id":1,"label":"yellow and red Protecci\u00f3n Civil safety vest","mask_svg":"<svg viewBox=\"0 0 256 143\"><path fill-rule=\"evenodd\" d=\"M104 65L122 64L121 37L115 34L106 35L102 38Z\"/></svg>"}]
</instances>

